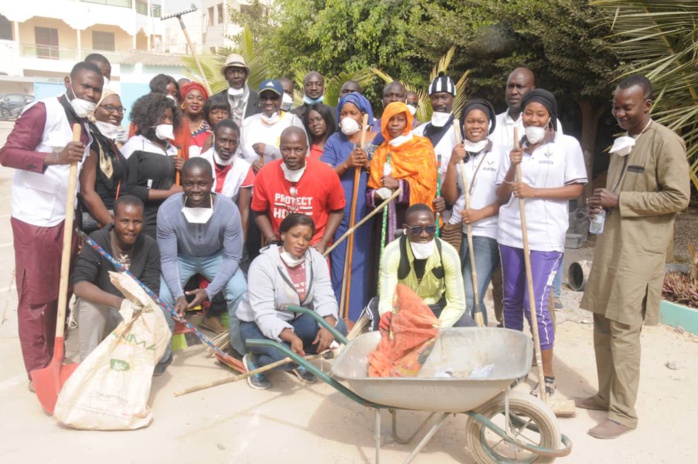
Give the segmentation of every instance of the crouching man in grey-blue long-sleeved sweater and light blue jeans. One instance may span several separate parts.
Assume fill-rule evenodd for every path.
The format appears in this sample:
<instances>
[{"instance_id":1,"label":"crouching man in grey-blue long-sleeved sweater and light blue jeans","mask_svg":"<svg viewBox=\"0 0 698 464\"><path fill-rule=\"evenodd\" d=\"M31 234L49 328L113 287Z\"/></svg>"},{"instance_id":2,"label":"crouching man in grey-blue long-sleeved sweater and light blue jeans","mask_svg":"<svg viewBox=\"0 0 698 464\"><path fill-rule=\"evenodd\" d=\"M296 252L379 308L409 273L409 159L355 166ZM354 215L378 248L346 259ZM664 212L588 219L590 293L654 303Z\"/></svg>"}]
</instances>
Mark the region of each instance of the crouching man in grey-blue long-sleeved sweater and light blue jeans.
<instances>
[{"instance_id":1,"label":"crouching man in grey-blue long-sleeved sweater and light blue jeans","mask_svg":"<svg viewBox=\"0 0 698 464\"><path fill-rule=\"evenodd\" d=\"M162 254L160 298L185 311L211 301L224 290L230 319L230 343L241 355L245 347L235 316L247 283L239 269L243 232L238 207L230 198L211 192L211 165L201 157L182 167L182 190L168 198L158 210L158 245ZM183 285L196 274L209 282L207 288L184 292ZM191 302L187 296L193 297ZM171 318L170 327L174 326Z\"/></svg>"}]
</instances>

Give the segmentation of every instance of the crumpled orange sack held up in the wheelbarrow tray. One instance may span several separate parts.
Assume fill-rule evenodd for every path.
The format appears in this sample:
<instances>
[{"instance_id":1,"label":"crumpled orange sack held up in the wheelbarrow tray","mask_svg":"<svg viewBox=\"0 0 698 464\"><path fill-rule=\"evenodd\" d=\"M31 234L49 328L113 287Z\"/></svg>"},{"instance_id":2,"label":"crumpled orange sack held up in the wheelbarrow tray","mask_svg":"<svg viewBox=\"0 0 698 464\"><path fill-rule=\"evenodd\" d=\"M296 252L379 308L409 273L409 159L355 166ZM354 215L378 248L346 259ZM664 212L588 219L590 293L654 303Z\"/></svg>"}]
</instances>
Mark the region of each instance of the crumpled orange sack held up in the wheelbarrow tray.
<instances>
[{"instance_id":1,"label":"crumpled orange sack held up in the wheelbarrow tray","mask_svg":"<svg viewBox=\"0 0 698 464\"><path fill-rule=\"evenodd\" d=\"M383 314L381 340L368 358L369 377L412 377L419 373L439 335L441 321L406 285L395 288L393 311Z\"/></svg>"}]
</instances>

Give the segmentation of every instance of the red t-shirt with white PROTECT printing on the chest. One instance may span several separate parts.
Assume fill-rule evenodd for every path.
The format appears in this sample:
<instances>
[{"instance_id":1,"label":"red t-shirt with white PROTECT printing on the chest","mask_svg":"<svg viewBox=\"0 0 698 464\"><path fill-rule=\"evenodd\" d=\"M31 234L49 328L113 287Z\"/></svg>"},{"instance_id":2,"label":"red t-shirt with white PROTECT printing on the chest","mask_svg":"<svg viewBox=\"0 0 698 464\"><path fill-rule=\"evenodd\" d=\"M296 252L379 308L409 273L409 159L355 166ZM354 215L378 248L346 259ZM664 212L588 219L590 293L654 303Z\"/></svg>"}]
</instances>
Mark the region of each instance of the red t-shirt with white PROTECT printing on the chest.
<instances>
[{"instance_id":1,"label":"red t-shirt with white PROTECT printing on the chest","mask_svg":"<svg viewBox=\"0 0 698 464\"><path fill-rule=\"evenodd\" d=\"M274 233L278 235L281 221L290 213L302 213L315 221L311 244L322 239L330 211L344 208L344 190L339 176L328 164L306 158L305 172L298 182L290 182L281 169L282 160L264 165L259 170L252 193L252 211L267 212Z\"/></svg>"}]
</instances>

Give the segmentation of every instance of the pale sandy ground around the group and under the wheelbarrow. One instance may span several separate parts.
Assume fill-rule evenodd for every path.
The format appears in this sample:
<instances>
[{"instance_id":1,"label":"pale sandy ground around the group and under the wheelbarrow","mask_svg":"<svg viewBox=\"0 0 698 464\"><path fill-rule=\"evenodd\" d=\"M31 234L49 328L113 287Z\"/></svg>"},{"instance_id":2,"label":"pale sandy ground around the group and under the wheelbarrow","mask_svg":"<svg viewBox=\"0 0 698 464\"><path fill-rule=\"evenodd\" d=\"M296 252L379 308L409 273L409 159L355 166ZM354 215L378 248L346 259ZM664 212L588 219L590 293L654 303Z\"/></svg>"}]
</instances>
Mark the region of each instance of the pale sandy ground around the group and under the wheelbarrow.
<instances>
[{"instance_id":1,"label":"pale sandy ground around the group and under the wheelbarrow","mask_svg":"<svg viewBox=\"0 0 698 464\"><path fill-rule=\"evenodd\" d=\"M7 127L0 125L0 145ZM200 345L177 352L167 373L154 379L150 401L155 420L150 427L108 433L57 425L26 388L9 225L11 175L11 170L0 168L0 262L5 264L0 268L0 462L373 462L373 411L325 384L305 387L284 373L274 373L269 391L255 391L239 382L173 397L182 388L230 375L205 357ZM569 250L566 263L591 255L590 248ZM589 395L596 384L591 318L578 309L580 298L581 293L565 288L565 309L557 313L558 391L567 397ZM69 357L76 355L76 339L77 333L71 332ZM615 441L599 441L585 432L604 414L580 410L575 418L559 421L574 443L572 455L563 462L696 462L698 405L693 396L698 391L698 338L669 327L647 327L642 344L639 428ZM676 369L667 368L667 363ZM318 365L329 369L325 361ZM520 388L530 389L534 378ZM402 413L401 434L407 435L424 416ZM389 415L382 417L382 462L402 462L411 446L393 442ZM465 446L464 427L463 415L449 417L415 462L474 462Z\"/></svg>"}]
</instances>

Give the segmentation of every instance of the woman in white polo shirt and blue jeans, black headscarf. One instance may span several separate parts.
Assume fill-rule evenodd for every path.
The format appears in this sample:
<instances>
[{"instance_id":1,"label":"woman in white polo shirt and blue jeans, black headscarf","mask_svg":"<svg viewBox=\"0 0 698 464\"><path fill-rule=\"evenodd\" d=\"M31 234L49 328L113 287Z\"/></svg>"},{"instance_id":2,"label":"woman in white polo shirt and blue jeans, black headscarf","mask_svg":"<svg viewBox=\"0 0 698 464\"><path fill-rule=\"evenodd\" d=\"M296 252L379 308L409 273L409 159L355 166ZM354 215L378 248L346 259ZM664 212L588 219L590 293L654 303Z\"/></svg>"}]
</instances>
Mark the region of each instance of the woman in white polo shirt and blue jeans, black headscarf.
<instances>
[{"instance_id":1,"label":"woman in white polo shirt and blue jeans, black headscarf","mask_svg":"<svg viewBox=\"0 0 698 464\"><path fill-rule=\"evenodd\" d=\"M496 182L499 170L501 148L493 145L488 138L496 125L496 113L487 100L474 98L463 106L461 119L465 138L456 145L448 162L448 169L441 194L447 203L453 204L450 224L463 224L461 242L461 262L465 285L466 307L473 316L475 305L482 310L487 324L485 291L492 280L492 273L499 265L497 246L497 199ZM461 169L465 167L465 177L470 195L470 207L466 209ZM475 301L472 265L470 260L467 225L471 226L475 270L477 271L478 300Z\"/></svg>"}]
</instances>

